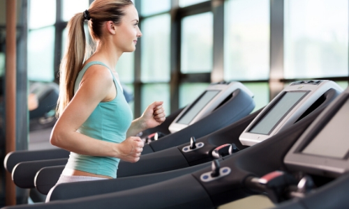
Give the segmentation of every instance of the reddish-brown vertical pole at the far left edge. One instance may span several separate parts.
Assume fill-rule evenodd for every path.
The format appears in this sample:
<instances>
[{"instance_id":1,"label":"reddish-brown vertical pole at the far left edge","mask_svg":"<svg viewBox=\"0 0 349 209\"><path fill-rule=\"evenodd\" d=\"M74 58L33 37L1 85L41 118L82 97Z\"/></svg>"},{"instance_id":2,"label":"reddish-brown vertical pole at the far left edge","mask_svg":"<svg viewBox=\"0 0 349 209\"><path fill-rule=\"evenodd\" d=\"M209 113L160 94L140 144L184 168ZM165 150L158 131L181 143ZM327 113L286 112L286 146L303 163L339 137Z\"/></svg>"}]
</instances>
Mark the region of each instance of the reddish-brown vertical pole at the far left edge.
<instances>
[{"instance_id":1,"label":"reddish-brown vertical pole at the far left edge","mask_svg":"<svg viewBox=\"0 0 349 209\"><path fill-rule=\"evenodd\" d=\"M16 127L16 0L6 1L6 154L15 150ZM16 188L6 172L6 206L16 204Z\"/></svg>"}]
</instances>

